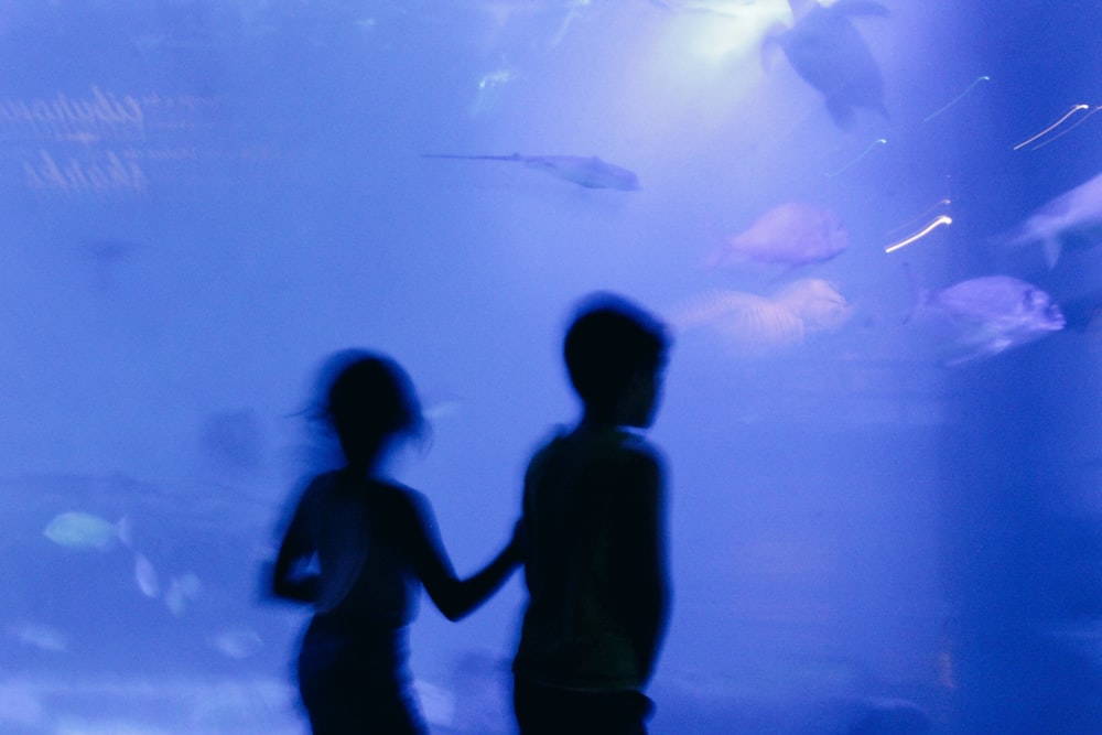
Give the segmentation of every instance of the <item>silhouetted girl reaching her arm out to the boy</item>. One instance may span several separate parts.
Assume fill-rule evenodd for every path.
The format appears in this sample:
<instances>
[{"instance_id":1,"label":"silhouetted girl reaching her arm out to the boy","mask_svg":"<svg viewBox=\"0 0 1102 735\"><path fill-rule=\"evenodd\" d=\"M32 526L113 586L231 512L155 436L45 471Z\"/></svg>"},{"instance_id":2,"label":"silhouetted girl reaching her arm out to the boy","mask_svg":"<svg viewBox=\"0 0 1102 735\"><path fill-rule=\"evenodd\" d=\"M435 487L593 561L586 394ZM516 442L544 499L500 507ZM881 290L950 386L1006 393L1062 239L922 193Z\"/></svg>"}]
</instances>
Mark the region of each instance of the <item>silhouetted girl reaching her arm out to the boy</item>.
<instances>
[{"instance_id":1,"label":"silhouetted girl reaching her arm out to the boy","mask_svg":"<svg viewBox=\"0 0 1102 735\"><path fill-rule=\"evenodd\" d=\"M411 689L408 628L419 587L450 620L485 601L519 561L510 543L458 580L432 507L381 475L387 451L422 428L413 387L392 360L344 354L321 418L345 466L313 478L280 547L273 591L309 602L299 689L314 735L426 733Z\"/></svg>"}]
</instances>

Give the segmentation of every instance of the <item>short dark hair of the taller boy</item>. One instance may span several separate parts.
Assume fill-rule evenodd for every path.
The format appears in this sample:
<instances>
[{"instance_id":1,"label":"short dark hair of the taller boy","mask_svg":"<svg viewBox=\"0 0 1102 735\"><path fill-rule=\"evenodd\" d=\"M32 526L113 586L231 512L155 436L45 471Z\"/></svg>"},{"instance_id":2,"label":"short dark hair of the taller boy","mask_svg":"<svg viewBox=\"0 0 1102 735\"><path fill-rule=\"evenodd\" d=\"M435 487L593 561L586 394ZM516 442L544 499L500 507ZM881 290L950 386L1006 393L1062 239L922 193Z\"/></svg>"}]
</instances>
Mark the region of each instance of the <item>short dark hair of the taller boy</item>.
<instances>
[{"instance_id":1,"label":"short dark hair of the taller boy","mask_svg":"<svg viewBox=\"0 0 1102 735\"><path fill-rule=\"evenodd\" d=\"M660 321L609 293L587 298L563 342L570 381L586 406L615 403L639 370L666 363L669 336Z\"/></svg>"}]
</instances>

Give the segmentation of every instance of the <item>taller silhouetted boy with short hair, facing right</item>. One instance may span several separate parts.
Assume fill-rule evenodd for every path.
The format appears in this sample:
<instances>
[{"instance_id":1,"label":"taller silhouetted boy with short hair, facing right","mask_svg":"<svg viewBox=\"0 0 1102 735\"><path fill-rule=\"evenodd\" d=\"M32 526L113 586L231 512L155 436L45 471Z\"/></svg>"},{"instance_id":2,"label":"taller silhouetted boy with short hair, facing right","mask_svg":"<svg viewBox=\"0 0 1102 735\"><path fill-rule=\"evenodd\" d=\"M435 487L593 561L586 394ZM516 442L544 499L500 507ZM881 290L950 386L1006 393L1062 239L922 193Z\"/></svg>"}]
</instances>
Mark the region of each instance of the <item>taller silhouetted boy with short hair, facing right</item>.
<instances>
[{"instance_id":1,"label":"taller silhouetted boy with short hair, facing right","mask_svg":"<svg viewBox=\"0 0 1102 735\"><path fill-rule=\"evenodd\" d=\"M523 735L646 733L670 601L666 490L658 452L631 430L653 419L668 344L657 320L612 295L568 331L582 420L525 476L530 599L512 666Z\"/></svg>"}]
</instances>

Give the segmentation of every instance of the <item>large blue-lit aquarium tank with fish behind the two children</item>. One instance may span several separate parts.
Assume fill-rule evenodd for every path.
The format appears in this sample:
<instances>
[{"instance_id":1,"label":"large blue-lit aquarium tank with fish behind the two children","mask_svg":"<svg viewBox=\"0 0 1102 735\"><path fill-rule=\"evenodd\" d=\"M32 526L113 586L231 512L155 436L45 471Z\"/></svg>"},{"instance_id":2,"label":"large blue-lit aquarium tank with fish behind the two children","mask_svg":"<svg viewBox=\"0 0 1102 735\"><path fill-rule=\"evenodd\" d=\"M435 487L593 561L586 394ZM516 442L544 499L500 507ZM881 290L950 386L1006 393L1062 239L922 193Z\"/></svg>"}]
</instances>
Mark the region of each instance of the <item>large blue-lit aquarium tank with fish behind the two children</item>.
<instances>
[{"instance_id":1,"label":"large blue-lit aquarium tank with fish behind the two children","mask_svg":"<svg viewBox=\"0 0 1102 735\"><path fill-rule=\"evenodd\" d=\"M0 731L304 735L266 570L348 347L409 371L461 574L674 337L657 734L1102 732L1094 2L11 0ZM433 733L516 732L522 575L421 605Z\"/></svg>"}]
</instances>

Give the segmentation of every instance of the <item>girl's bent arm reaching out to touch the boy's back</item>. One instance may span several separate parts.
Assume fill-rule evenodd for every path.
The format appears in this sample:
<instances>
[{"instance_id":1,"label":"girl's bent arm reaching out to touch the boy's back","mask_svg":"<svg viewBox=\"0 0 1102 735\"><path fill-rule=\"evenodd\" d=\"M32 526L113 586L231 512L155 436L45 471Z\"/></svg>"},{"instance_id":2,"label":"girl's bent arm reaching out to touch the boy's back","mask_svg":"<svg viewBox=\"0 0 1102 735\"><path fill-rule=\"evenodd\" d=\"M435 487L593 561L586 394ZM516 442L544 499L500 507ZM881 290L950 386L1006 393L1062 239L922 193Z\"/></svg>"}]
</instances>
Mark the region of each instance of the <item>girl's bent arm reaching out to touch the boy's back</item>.
<instances>
[{"instance_id":1,"label":"girl's bent arm reaching out to touch the boy's back","mask_svg":"<svg viewBox=\"0 0 1102 735\"><path fill-rule=\"evenodd\" d=\"M519 526L501 551L466 580L456 577L428 500L410 495L413 563L425 592L449 620L458 620L497 592L521 561Z\"/></svg>"}]
</instances>

